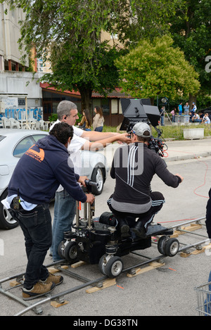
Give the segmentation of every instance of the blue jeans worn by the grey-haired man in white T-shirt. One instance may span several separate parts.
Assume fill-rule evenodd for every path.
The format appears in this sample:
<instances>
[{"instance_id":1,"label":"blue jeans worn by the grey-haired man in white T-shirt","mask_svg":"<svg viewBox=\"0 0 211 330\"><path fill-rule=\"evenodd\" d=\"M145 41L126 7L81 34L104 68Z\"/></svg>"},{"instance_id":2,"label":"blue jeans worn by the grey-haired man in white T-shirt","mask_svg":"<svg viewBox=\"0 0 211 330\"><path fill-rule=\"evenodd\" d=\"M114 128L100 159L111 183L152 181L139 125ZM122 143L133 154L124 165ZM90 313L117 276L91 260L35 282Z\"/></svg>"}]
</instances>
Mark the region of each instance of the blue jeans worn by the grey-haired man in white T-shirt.
<instances>
[{"instance_id":1,"label":"blue jeans worn by the grey-haired man in white T-shirt","mask_svg":"<svg viewBox=\"0 0 211 330\"><path fill-rule=\"evenodd\" d=\"M60 260L58 246L64 239L64 231L72 230L72 222L75 218L75 205L75 199L67 191L56 192L53 218L53 243L51 246L53 261Z\"/></svg>"}]
</instances>

